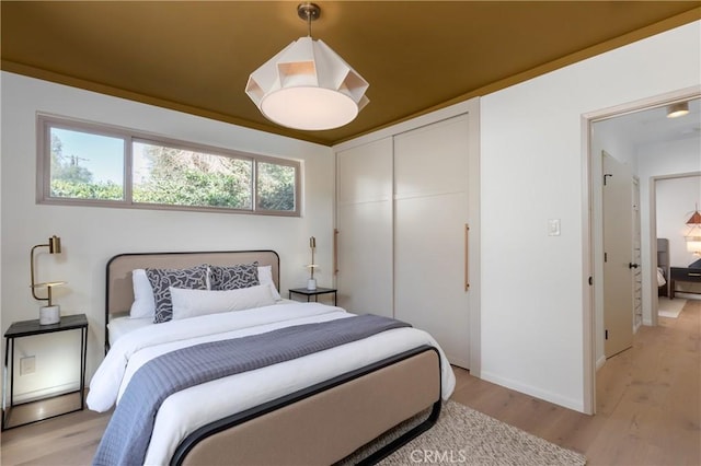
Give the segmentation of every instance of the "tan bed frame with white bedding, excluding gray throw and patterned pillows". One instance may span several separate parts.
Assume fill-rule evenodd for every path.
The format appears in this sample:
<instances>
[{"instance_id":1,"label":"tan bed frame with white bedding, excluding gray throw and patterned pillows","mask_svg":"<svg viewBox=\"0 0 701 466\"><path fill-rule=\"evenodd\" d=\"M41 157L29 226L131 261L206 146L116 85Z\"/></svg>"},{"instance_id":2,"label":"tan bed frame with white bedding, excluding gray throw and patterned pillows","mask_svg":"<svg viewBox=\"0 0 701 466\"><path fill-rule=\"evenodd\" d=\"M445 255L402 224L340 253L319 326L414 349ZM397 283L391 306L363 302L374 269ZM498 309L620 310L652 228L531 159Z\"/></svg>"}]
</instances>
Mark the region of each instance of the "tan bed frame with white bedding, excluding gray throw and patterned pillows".
<instances>
[{"instance_id":1,"label":"tan bed frame with white bedding, excluding gray throw and patterned pillows","mask_svg":"<svg viewBox=\"0 0 701 466\"><path fill-rule=\"evenodd\" d=\"M182 306L176 308L171 288L172 321L153 324L129 316L138 301L134 270L204 264L255 264L266 269L269 283L265 286L274 289L275 302L176 319ZM279 299L279 258L272 251L123 254L110 260L106 277L106 357L91 381L88 406L104 411L117 403L107 431L117 423L117 411L125 411L124 399L130 399L140 368L157 359L180 358L183 348L205 340L203 345L237 345L246 336L265 338L304 324L347 325L366 317L336 306ZM428 334L392 328L170 395L156 415L143 463L333 464L397 424L426 413L413 429L367 458L372 463L429 429L453 387L447 359ZM103 439L103 443L107 442ZM100 458L95 456L95 464L112 463Z\"/></svg>"}]
</instances>

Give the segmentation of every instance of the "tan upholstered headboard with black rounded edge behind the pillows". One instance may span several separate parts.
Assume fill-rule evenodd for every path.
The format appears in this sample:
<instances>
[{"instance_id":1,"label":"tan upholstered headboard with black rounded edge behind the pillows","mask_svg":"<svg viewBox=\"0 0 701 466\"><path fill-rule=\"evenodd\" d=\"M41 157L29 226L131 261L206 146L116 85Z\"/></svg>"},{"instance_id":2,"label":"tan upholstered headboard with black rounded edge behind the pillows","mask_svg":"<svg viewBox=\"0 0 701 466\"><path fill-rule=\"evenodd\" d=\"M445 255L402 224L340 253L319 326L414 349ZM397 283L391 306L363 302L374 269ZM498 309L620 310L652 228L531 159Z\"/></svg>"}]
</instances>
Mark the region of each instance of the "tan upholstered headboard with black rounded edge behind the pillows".
<instances>
[{"instance_id":1,"label":"tan upholstered headboard with black rounded edge behind the pillows","mask_svg":"<svg viewBox=\"0 0 701 466\"><path fill-rule=\"evenodd\" d=\"M280 259L274 251L223 251L202 253L134 253L119 254L107 261L107 289L105 293L105 342L106 325L116 315L126 315L134 302L131 270L143 268L181 269L209 264L212 266L232 266L237 264L258 263L271 266L273 281L279 290Z\"/></svg>"}]
</instances>

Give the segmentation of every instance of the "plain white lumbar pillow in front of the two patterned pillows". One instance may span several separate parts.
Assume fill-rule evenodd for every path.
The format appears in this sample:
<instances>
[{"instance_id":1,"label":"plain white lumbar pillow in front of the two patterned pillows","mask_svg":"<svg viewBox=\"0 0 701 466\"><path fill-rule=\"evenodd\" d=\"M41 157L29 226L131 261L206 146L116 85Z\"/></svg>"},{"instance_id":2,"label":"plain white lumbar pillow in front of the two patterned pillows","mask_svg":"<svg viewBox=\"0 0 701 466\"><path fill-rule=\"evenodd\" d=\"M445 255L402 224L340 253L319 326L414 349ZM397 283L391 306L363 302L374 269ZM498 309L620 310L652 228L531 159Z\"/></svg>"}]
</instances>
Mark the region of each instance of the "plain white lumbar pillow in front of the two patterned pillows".
<instances>
[{"instance_id":1,"label":"plain white lumbar pillow in front of the two patterned pillows","mask_svg":"<svg viewBox=\"0 0 701 466\"><path fill-rule=\"evenodd\" d=\"M189 290L171 287L173 321L269 306L276 301L273 295L274 289L269 283L237 290Z\"/></svg>"}]
</instances>

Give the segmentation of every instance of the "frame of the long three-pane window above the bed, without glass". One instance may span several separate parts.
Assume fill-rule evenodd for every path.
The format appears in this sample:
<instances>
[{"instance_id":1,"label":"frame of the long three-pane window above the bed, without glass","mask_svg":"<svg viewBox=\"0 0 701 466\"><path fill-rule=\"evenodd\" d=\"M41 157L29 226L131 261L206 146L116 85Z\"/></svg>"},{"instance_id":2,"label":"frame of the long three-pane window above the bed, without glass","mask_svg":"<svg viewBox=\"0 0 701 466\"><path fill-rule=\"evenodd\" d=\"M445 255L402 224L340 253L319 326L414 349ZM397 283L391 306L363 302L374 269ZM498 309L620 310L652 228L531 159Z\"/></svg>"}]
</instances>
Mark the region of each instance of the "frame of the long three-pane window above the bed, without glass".
<instances>
[{"instance_id":1,"label":"frame of the long three-pane window above the bed, without glass","mask_svg":"<svg viewBox=\"0 0 701 466\"><path fill-rule=\"evenodd\" d=\"M124 140L124 199L79 199L51 197L51 141L50 129L60 128L71 131L88 132L95 136L105 136ZM216 148L211 145L165 138L150 135L130 128L115 127L104 124L77 120L55 115L37 114L37 170L36 170L36 202L55 206L91 206L111 207L127 209L149 209L149 210L183 210L219 213L245 213L256 215L280 215L301 217L301 163L297 160L279 159L269 155L239 152L230 149ZM250 160L252 162L251 173L251 208L234 209L230 207L208 207L208 206L179 206L150 202L135 202L133 200L133 144L135 142L146 142L150 144L162 144L164 147L182 149L194 152L204 152L217 156L228 156L233 159ZM295 170L295 209L294 210L267 210L258 207L257 200L257 164L269 163L281 166L289 166Z\"/></svg>"}]
</instances>

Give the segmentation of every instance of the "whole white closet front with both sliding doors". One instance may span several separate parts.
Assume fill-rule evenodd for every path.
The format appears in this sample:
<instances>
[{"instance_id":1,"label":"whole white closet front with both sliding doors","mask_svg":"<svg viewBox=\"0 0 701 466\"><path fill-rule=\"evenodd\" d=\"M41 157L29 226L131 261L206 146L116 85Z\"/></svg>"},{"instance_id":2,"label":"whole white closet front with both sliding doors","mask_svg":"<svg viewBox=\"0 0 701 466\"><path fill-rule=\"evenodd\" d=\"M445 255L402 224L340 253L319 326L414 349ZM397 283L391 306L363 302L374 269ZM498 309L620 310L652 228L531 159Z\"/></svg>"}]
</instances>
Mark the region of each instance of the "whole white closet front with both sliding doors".
<instances>
[{"instance_id":1,"label":"whole white closet front with both sliding doors","mask_svg":"<svg viewBox=\"0 0 701 466\"><path fill-rule=\"evenodd\" d=\"M430 333L470 365L468 115L336 154L340 305Z\"/></svg>"}]
</instances>

